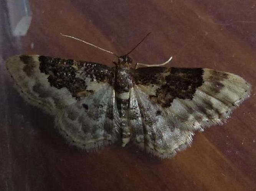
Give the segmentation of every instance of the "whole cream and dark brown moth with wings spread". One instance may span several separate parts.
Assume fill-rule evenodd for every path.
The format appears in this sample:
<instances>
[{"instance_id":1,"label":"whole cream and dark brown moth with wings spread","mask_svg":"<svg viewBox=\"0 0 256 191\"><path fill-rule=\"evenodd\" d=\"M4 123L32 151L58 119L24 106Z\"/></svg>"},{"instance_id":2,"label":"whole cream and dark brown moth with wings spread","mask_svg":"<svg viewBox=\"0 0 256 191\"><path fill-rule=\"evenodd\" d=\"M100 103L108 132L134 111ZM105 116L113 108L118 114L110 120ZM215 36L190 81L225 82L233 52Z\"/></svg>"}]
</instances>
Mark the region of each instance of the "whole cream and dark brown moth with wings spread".
<instances>
[{"instance_id":1,"label":"whole cream and dark brown moth with wings spread","mask_svg":"<svg viewBox=\"0 0 256 191\"><path fill-rule=\"evenodd\" d=\"M64 138L86 151L122 139L122 146L134 142L173 157L195 131L222 125L250 95L251 85L238 75L163 67L171 58L134 68L129 53L117 56L114 67L40 55L13 56L6 66L21 95L54 115Z\"/></svg>"}]
</instances>

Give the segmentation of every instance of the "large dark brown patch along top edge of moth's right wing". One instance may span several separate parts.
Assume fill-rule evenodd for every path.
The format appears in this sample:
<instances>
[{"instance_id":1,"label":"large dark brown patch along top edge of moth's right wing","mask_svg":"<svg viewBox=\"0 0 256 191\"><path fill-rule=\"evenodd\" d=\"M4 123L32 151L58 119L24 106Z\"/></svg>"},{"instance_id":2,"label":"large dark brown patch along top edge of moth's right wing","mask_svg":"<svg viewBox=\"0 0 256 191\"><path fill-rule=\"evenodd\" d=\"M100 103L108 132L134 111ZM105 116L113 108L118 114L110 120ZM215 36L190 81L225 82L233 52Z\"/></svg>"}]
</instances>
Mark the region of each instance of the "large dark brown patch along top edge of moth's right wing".
<instances>
[{"instance_id":1,"label":"large dark brown patch along top edge of moth's right wing","mask_svg":"<svg viewBox=\"0 0 256 191\"><path fill-rule=\"evenodd\" d=\"M136 70L134 78L135 84L160 86L156 89L155 95L149 95L149 99L162 107L170 107L175 98L193 98L197 87L203 84L203 69L140 68Z\"/></svg>"}]
</instances>

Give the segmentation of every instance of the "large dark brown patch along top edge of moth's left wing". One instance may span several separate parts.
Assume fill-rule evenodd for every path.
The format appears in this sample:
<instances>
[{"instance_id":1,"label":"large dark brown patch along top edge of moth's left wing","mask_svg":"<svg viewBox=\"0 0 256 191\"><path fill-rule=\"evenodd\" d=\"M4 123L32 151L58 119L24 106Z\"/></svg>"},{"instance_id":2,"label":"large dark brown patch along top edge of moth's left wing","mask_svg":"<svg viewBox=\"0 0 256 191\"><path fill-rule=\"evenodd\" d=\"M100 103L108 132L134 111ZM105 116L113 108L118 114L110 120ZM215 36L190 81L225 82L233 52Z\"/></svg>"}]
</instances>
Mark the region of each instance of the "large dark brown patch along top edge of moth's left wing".
<instances>
[{"instance_id":1,"label":"large dark brown patch along top edge of moth's left wing","mask_svg":"<svg viewBox=\"0 0 256 191\"><path fill-rule=\"evenodd\" d=\"M109 67L101 64L45 56L40 56L39 62L40 71L49 74L50 85L58 89L66 87L76 99L94 93L92 90L86 90L87 85L84 80L86 77L91 81L113 84L111 83L113 72Z\"/></svg>"}]
</instances>

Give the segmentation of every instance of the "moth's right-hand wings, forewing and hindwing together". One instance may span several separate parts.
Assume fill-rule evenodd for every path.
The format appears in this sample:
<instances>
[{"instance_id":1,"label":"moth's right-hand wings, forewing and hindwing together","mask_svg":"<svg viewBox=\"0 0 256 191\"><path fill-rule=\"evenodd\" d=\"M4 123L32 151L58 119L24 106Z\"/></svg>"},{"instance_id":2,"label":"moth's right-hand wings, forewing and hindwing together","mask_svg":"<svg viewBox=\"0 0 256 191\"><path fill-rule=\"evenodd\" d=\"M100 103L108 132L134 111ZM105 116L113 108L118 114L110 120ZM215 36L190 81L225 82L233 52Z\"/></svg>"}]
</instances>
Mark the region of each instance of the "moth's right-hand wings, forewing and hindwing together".
<instances>
[{"instance_id":1,"label":"moth's right-hand wings, forewing and hindwing together","mask_svg":"<svg viewBox=\"0 0 256 191\"><path fill-rule=\"evenodd\" d=\"M243 78L210 69L152 67L132 75L144 145L159 156L189 144L193 131L222 124L251 92Z\"/></svg>"}]
</instances>

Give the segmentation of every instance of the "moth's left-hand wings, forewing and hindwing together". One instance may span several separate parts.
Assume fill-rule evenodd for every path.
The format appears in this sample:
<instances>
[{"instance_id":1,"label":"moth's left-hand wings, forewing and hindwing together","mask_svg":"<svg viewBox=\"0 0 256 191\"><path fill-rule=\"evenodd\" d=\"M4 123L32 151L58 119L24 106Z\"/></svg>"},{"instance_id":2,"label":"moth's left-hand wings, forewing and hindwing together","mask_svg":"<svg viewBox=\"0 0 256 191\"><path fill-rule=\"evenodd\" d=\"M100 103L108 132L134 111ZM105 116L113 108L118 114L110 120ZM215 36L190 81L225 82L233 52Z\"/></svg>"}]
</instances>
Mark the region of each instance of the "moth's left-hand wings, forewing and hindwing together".
<instances>
[{"instance_id":1,"label":"moth's left-hand wings, forewing and hindwing together","mask_svg":"<svg viewBox=\"0 0 256 191\"><path fill-rule=\"evenodd\" d=\"M56 126L71 144L91 150L117 139L119 116L111 68L21 55L9 58L7 69L28 102L55 115Z\"/></svg>"}]
</instances>

